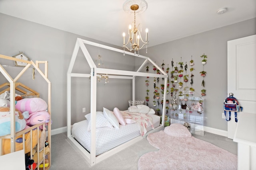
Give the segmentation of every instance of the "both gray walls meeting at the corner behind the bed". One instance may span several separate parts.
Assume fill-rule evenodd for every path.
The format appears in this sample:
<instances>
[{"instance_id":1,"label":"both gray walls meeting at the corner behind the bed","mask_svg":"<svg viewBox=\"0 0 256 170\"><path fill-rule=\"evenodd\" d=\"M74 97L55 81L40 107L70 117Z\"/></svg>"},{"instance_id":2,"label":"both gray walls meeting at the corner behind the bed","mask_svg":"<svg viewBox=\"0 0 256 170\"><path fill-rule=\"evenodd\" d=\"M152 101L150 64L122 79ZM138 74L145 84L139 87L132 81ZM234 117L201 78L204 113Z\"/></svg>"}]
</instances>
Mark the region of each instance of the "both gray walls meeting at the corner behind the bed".
<instances>
[{"instance_id":1,"label":"both gray walls meeting at the corner behind the bed","mask_svg":"<svg viewBox=\"0 0 256 170\"><path fill-rule=\"evenodd\" d=\"M13 56L22 51L33 61L48 61L49 80L52 83L52 129L65 127L66 73L76 39L80 37L96 43L102 42L4 14L0 14L0 23L0 54ZM180 57L182 57L182 61L189 62L192 55L195 62L194 68L196 69L194 71L193 87L196 92L200 93L201 77L198 75L199 73L196 73L202 70L200 56L205 53L208 56L208 62L205 65L205 71L207 71L207 76L205 77L207 90L207 95L205 96L205 125L227 130L227 123L221 118L223 100L227 96L227 41L253 34L256 34L255 18L150 47L147 54L142 50L140 55L150 57L158 65L161 65L163 60L166 65L170 65L172 59L178 62ZM90 53L93 54L95 57L93 59L96 60L98 49L91 47L88 47L88 49L91 50ZM116 59L115 57L120 57L120 54L112 54L104 50L100 50L100 54L106 67L113 66L115 69L126 68L134 70L135 63L137 62L136 66L139 65L138 61L135 62L128 56ZM79 52L78 56L80 59L76 62L74 71L86 71L88 65L83 61L82 53ZM2 64L2 61L0 62ZM19 70L17 69L13 68L12 71L18 73ZM42 90L44 89L43 80L38 78L37 75L35 80L31 80L31 78L28 78L29 76L22 79L23 83L28 83L26 84L27 86L39 91L41 96L45 98L44 90ZM145 82L143 78L138 78L138 80L136 98L144 99L146 96ZM1 78L0 83L2 81L4 80ZM74 94L72 98L72 112L74 112L72 123L74 123L83 120L84 115L90 112L90 81L78 78L72 78L72 81L72 92ZM131 82L129 80L119 81L112 79L106 85L100 82L97 86L99 86L100 90L97 93L98 110L102 110L102 107L127 109L127 101L131 99ZM77 96L79 98L76 98ZM82 113L82 107L86 107L86 113Z\"/></svg>"}]
</instances>

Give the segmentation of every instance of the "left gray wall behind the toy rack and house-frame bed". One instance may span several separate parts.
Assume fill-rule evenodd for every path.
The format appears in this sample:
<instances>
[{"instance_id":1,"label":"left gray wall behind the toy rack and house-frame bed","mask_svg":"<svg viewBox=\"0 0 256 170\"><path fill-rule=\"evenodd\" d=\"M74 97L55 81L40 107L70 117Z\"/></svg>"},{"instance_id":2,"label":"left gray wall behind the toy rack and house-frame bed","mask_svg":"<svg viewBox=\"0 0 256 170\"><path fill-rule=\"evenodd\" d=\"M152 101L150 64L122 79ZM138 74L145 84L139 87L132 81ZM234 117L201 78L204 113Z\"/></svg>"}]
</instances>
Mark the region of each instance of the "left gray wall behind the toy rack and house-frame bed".
<instances>
[{"instance_id":1,"label":"left gray wall behind the toy rack and house-frame bed","mask_svg":"<svg viewBox=\"0 0 256 170\"><path fill-rule=\"evenodd\" d=\"M48 78L52 84L52 129L66 127L67 69L76 39L79 37L96 43L102 42L5 14L0 14L0 23L0 54L13 56L22 51L34 62L36 60L48 61ZM92 53L92 58L95 61L99 54L98 48L90 46L87 48ZM124 57L122 53L112 54L100 49L100 54L106 68L125 68L127 70L134 70L135 68L135 59L131 59L128 56ZM122 59L115 59L117 56L121 56ZM5 62L7 61L0 61L4 65L14 65L12 61ZM86 68L90 70L80 50L73 70L81 73L86 71ZM21 71L21 68L10 67L6 68L6 70L9 70L8 72L14 77ZM3 82L7 81L0 75L0 83ZM18 82L22 82L38 91L40 97L47 101L47 84L40 78L38 73L35 74L35 80L32 80L32 69L31 71L28 70L28 74L24 74ZM99 111L103 110L103 107L127 109L128 100L132 98L130 92L131 84L132 82L129 80L118 82L116 79L109 80L106 85L104 85L104 81L99 82L97 86L101 88L97 93L97 109ZM85 119L84 115L90 113L90 80L88 78L72 78L72 92L73 96L78 97L72 97L72 123L74 123ZM120 97L122 98L121 100ZM86 113L82 113L83 107L86 107Z\"/></svg>"}]
</instances>

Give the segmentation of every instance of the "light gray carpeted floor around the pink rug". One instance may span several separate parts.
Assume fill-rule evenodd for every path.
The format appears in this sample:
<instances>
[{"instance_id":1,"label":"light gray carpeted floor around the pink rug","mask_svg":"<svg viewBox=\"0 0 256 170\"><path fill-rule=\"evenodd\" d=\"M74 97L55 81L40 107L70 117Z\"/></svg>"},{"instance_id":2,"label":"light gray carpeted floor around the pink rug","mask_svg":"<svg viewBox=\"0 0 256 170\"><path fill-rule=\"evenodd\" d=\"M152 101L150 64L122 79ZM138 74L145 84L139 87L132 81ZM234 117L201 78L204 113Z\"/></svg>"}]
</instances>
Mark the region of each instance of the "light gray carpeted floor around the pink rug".
<instances>
[{"instance_id":1,"label":"light gray carpeted floor around the pink rug","mask_svg":"<svg viewBox=\"0 0 256 170\"><path fill-rule=\"evenodd\" d=\"M237 155L237 143L227 137L207 132L204 133L204 136L194 134L193 136ZM91 167L66 138L66 133L52 136L50 170L137 170L140 156L147 152L158 151L145 138Z\"/></svg>"}]
</instances>

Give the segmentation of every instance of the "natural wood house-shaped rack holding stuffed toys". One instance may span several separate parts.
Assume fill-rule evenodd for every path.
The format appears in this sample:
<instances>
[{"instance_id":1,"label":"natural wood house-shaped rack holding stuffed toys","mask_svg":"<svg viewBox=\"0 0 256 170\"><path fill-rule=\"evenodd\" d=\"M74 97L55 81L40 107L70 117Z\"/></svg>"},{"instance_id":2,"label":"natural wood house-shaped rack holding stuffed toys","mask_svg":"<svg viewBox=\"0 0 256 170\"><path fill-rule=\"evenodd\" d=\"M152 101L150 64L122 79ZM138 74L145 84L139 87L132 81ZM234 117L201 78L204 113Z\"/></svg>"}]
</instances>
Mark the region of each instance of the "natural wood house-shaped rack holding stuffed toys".
<instances>
[{"instance_id":1,"label":"natural wood house-shaped rack holding stuffed toys","mask_svg":"<svg viewBox=\"0 0 256 170\"><path fill-rule=\"evenodd\" d=\"M2 109L8 109L8 112L10 113L9 120L9 126L10 131L8 134L2 134L0 135L0 156L4 154L8 154L10 152L16 152L18 150L24 150L25 159L33 159L34 164L29 164L31 161L27 161L28 164L26 164L26 167L29 166L29 168L35 169L35 166L37 166L36 169L42 169L42 170L48 170L51 165L51 154L50 154L50 147L51 147L51 123L36 123L35 125L32 125L32 119L30 120L30 117L25 117L26 111L21 111L20 109L17 109L18 102L24 102L24 100L42 100L40 99L40 94L36 92L35 90L29 88L28 86L22 84L21 82L17 82L25 72L28 70L32 70L32 78L34 79L34 71L36 70L41 75L42 78L46 81L48 84L48 100L47 104L45 102L45 109L47 109L48 113L48 121L51 121L51 84L48 80L48 62L47 61L36 61L34 63L33 61L25 61L22 59L16 59L14 57L9 57L5 55L0 55L1 63L0 63L0 72L2 75L6 78L5 83L0 85L0 95L1 95L1 110ZM6 61L7 60L7 61ZM12 66L4 65L3 63L9 62L9 61L20 61L22 63L27 63L26 66L20 67L20 73L15 77L12 78L10 74L8 74L8 71L12 72ZM10 62L9 62L10 63ZM44 72L42 72L39 68L39 64L44 64ZM30 68L31 66L31 68ZM4 80L4 79L2 79ZM35 80L34 80L35 81ZM6 97L6 94L9 95L8 98ZM5 101L8 101L8 103L3 103L3 99ZM30 103L31 104L31 103ZM31 106L31 105L30 105ZM31 107L32 108L32 107ZM30 109L31 109L30 108ZM26 107L26 110L28 108ZM6 111L6 110L2 110ZM30 110L32 111L32 110ZM30 111L27 111L29 116L32 116L33 113L30 113ZM38 111L39 112L39 111ZM4 112L2 112L4 113ZM21 113L23 116L21 116ZM36 111L34 112L36 113ZM19 115L17 118L16 114ZM28 116L28 115L27 115ZM26 127L23 129L19 129L20 122L17 123L18 119L26 119L25 125ZM30 126L28 126L26 123L30 120ZM48 131L46 131L46 126ZM8 127L8 126L6 126ZM41 130L42 129L42 130ZM2 129L1 129L2 130ZM1 131L2 133L3 131ZM45 139L46 135L48 133L48 146L46 147ZM25 142L24 142L25 141ZM30 154L30 155L28 155ZM47 158L47 161L46 159ZM35 164L36 162L36 164ZM39 165L40 164L40 165ZM33 167L32 167L33 166Z\"/></svg>"}]
</instances>

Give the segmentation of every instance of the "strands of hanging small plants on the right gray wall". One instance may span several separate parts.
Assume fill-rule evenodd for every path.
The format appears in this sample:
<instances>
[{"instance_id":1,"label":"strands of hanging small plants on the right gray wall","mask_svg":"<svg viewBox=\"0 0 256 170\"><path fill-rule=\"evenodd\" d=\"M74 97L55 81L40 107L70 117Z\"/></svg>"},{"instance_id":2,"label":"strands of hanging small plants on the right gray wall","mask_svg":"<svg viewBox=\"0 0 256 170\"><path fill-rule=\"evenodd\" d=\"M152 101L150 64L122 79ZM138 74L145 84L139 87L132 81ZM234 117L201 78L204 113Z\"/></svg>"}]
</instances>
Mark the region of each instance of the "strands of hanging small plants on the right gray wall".
<instances>
[{"instance_id":1,"label":"strands of hanging small plants on the right gray wall","mask_svg":"<svg viewBox=\"0 0 256 170\"><path fill-rule=\"evenodd\" d=\"M202 90L200 94L202 96L206 95L206 89L205 89L205 76L206 76L206 71L205 71L205 64L207 62L207 56L202 55L200 56L202 58L201 64L203 65L202 71L200 71L200 76L202 77ZM174 64L174 59L171 60L170 62L170 67L169 64L164 63L164 60L162 61L161 68L162 70L165 70L165 72L168 75L167 79L167 84L164 84L164 80L160 80L160 78L154 77L153 80L153 85L154 85L154 92L153 92L153 101L149 101L151 98L149 92L150 86L149 86L149 78L145 80L146 82L146 105L150 105L150 103L156 107L154 110L156 111L156 114L159 115L160 111L162 111L163 104L166 102L166 115L170 114L171 117L177 117L179 115L179 111L181 109L186 109L187 112L189 113L190 107L194 106L194 102L187 102L187 96L184 96L184 92L186 91L186 94L188 93L189 95L193 95L195 90L193 88L194 86L194 66L196 63L194 63L191 55L191 59L188 61L182 61L182 57L180 57L180 61L175 62ZM156 62L155 62L156 63ZM165 68L167 66L167 68ZM156 74L162 74L160 70L156 68L156 66L152 66L152 68L149 68L149 66L146 66L146 71L148 72L150 69L156 72ZM189 73L190 70L190 73ZM170 75L169 75L170 73ZM196 80L198 77L196 76ZM201 81L199 79L199 81ZM165 101L163 100L164 96L164 90L166 88L166 99ZM186 90L185 90L186 89ZM162 94L162 95L161 95ZM168 96L170 95L170 96ZM187 115L184 114L184 117Z\"/></svg>"}]
</instances>

